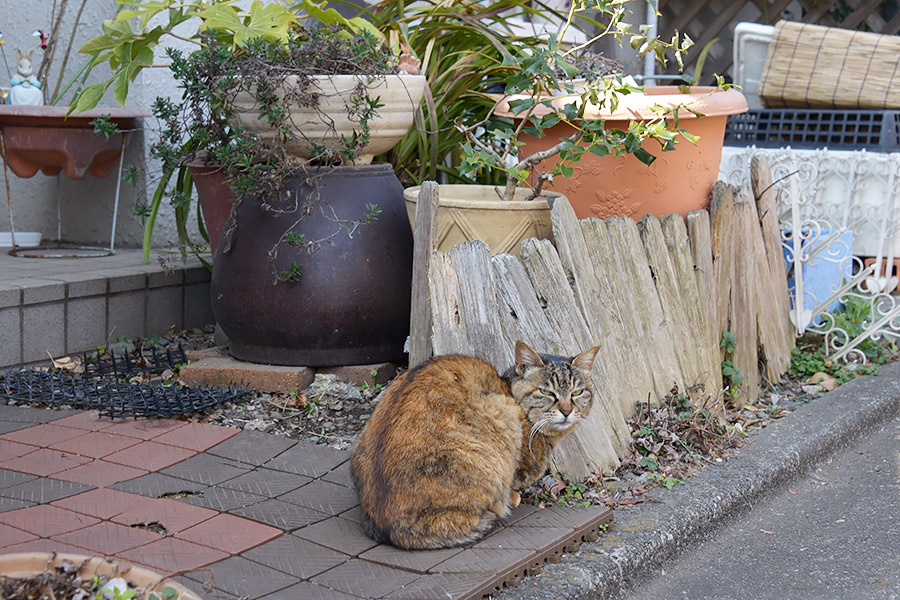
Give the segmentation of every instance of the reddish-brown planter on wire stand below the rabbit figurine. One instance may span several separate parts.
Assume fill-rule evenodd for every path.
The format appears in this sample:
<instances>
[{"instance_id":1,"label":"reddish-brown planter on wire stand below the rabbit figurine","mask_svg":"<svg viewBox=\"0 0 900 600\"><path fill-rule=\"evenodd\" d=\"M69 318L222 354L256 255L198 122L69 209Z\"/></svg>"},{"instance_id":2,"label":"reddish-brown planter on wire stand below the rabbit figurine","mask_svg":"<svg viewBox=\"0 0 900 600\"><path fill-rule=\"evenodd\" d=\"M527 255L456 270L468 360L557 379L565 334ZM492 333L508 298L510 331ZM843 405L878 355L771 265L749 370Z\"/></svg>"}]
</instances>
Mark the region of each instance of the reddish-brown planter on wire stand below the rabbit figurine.
<instances>
[{"instance_id":1,"label":"reddish-brown planter on wire stand below the rabbit figurine","mask_svg":"<svg viewBox=\"0 0 900 600\"><path fill-rule=\"evenodd\" d=\"M90 122L103 115L120 129L134 129L142 110L120 107L96 108L66 117L65 106L0 105L0 130L3 132L3 158L19 177L32 177L38 170L45 175L64 172L70 179L83 179L90 172L106 177L118 165L122 154L122 136L115 133L105 139L94 133Z\"/></svg>"}]
</instances>

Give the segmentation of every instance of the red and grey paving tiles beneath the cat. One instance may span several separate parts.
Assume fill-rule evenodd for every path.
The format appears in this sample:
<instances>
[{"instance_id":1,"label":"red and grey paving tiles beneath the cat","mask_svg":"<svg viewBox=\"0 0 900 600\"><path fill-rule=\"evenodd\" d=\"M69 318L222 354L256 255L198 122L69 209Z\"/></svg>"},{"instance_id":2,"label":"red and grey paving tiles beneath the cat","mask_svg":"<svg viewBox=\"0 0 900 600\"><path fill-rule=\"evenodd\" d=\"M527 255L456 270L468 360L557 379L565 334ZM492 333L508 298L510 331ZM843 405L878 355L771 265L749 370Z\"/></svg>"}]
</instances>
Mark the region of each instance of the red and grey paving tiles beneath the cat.
<instances>
[{"instance_id":1,"label":"red and grey paving tiles beneath the cat","mask_svg":"<svg viewBox=\"0 0 900 600\"><path fill-rule=\"evenodd\" d=\"M401 550L362 532L347 451L177 420L53 415L0 406L0 552L109 555L184 574L207 600L479 600L611 521L599 508L520 506L471 547Z\"/></svg>"}]
</instances>

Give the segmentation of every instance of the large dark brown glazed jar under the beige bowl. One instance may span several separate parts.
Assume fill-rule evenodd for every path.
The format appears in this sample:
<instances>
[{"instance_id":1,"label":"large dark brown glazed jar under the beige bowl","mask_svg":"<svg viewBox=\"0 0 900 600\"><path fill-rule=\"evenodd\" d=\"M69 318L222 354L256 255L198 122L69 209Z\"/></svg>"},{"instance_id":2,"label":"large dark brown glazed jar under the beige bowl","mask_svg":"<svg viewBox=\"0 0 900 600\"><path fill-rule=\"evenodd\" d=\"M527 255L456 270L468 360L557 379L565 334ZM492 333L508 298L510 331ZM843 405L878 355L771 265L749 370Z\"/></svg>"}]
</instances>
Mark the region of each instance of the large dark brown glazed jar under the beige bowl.
<instances>
[{"instance_id":1,"label":"large dark brown glazed jar under the beige bowl","mask_svg":"<svg viewBox=\"0 0 900 600\"><path fill-rule=\"evenodd\" d=\"M354 227L370 203L377 219ZM245 198L230 249L224 236L216 252L212 309L231 354L316 367L402 360L412 232L391 166L313 171L291 180L272 205L278 210ZM316 243L292 245L288 231Z\"/></svg>"}]
</instances>

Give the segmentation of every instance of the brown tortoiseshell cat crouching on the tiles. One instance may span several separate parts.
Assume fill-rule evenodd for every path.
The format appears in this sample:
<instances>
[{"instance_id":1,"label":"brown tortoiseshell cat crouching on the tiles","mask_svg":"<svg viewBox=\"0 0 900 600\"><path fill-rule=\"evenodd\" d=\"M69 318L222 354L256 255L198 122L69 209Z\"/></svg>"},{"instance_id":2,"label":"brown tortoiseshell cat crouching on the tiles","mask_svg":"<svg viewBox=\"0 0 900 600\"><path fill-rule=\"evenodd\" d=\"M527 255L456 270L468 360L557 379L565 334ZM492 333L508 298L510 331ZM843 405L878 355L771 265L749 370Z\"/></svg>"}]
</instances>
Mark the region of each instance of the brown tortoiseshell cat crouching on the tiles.
<instances>
[{"instance_id":1,"label":"brown tortoiseshell cat crouching on the tiles","mask_svg":"<svg viewBox=\"0 0 900 600\"><path fill-rule=\"evenodd\" d=\"M366 534L408 549L484 536L590 411L598 351L566 359L517 342L503 377L478 358L438 356L397 378L353 448Z\"/></svg>"}]
</instances>

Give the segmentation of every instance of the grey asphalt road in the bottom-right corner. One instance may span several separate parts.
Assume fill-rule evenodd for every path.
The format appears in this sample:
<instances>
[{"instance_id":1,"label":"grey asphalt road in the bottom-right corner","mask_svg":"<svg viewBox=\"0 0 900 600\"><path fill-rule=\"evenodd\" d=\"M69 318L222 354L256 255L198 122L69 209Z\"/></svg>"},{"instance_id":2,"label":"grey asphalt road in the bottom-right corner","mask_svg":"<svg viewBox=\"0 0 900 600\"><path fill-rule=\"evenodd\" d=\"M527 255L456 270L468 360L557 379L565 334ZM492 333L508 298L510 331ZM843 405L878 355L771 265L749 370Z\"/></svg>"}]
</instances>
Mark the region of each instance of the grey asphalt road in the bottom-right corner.
<instances>
[{"instance_id":1,"label":"grey asphalt road in the bottom-right corner","mask_svg":"<svg viewBox=\"0 0 900 600\"><path fill-rule=\"evenodd\" d=\"M624 598L900 599L900 415L682 550Z\"/></svg>"}]
</instances>

